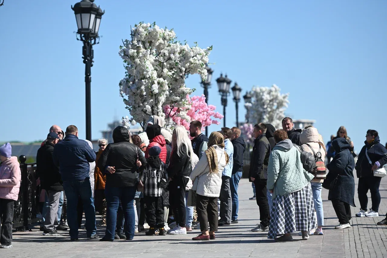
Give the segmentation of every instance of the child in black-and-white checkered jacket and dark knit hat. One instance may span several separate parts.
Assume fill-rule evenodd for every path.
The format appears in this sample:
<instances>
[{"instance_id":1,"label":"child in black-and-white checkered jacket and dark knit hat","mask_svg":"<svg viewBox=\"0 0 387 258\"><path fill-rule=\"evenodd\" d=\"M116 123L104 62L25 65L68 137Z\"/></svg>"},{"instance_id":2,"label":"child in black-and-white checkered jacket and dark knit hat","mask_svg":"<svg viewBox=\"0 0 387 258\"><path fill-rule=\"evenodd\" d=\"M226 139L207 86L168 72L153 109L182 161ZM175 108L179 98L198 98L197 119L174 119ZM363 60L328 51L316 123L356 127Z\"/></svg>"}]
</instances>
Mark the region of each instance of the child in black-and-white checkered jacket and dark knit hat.
<instances>
[{"instance_id":1,"label":"child in black-and-white checkered jacket and dark knit hat","mask_svg":"<svg viewBox=\"0 0 387 258\"><path fill-rule=\"evenodd\" d=\"M145 212L149 230L147 236L154 236L156 227L159 229L159 236L165 236L164 230L164 208L163 208L163 187L160 182L167 179L166 165L159 158L161 148L153 146L149 149L149 157L146 159L146 169L141 172L140 180L144 184Z\"/></svg>"}]
</instances>

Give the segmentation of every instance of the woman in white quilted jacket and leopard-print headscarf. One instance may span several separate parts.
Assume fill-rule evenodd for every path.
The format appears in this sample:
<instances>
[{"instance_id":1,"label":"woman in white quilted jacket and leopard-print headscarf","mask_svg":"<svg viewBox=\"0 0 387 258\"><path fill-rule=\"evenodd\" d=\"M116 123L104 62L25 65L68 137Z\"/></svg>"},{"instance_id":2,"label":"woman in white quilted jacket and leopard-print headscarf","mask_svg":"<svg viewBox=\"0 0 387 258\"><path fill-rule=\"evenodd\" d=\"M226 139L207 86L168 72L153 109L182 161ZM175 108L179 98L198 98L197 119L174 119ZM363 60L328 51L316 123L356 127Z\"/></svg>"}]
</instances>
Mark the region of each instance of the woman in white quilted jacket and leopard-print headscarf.
<instances>
[{"instance_id":1,"label":"woman in white quilted jacket and leopard-print headscarf","mask_svg":"<svg viewBox=\"0 0 387 258\"><path fill-rule=\"evenodd\" d=\"M222 172L229 157L224 151L224 138L220 132L212 132L208 141L208 149L200 158L191 179L196 190L196 210L202 234L192 240L215 239L218 227L218 206L220 189L222 186ZM208 222L210 230L208 230Z\"/></svg>"}]
</instances>

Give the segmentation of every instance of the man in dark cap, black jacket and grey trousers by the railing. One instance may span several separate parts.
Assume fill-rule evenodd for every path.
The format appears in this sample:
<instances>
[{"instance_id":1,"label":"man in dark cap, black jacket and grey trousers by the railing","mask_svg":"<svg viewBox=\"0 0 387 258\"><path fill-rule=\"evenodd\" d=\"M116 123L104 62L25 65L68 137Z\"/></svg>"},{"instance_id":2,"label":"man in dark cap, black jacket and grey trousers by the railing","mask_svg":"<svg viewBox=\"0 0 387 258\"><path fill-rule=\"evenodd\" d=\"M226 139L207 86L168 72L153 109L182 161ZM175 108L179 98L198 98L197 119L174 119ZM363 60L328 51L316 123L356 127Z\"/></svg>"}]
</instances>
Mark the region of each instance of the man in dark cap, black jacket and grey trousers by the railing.
<instances>
[{"instance_id":1,"label":"man in dark cap, black jacket and grey trousers by the railing","mask_svg":"<svg viewBox=\"0 0 387 258\"><path fill-rule=\"evenodd\" d=\"M55 227L58 227L59 198L63 191L62 177L59 168L54 164L54 146L60 141L57 132L50 132L43 146L36 153L36 169L39 171L41 188L46 190L48 196L48 209L45 214L43 227L44 236L60 235Z\"/></svg>"}]
</instances>

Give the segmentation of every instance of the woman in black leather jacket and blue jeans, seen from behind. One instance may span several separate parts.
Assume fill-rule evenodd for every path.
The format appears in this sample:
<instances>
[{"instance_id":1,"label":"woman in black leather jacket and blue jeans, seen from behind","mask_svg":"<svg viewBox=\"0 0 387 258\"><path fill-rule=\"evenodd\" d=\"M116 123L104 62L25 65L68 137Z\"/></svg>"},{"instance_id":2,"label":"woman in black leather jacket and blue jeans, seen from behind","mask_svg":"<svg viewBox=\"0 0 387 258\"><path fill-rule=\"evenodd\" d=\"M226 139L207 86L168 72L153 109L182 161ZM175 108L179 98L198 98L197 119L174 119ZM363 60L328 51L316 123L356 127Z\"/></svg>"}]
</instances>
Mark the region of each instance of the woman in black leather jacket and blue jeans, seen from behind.
<instances>
[{"instance_id":1,"label":"woman in black leather jacket and blue jeans, seen from behind","mask_svg":"<svg viewBox=\"0 0 387 258\"><path fill-rule=\"evenodd\" d=\"M144 169L146 160L141 150L130 143L128 129L117 126L113 130L114 143L108 144L98 161L98 167L106 174L106 232L100 241L113 241L117 210L121 202L125 214L125 236L132 240L135 230L134 196L139 182L138 168ZM139 164L139 161L141 164Z\"/></svg>"}]
</instances>

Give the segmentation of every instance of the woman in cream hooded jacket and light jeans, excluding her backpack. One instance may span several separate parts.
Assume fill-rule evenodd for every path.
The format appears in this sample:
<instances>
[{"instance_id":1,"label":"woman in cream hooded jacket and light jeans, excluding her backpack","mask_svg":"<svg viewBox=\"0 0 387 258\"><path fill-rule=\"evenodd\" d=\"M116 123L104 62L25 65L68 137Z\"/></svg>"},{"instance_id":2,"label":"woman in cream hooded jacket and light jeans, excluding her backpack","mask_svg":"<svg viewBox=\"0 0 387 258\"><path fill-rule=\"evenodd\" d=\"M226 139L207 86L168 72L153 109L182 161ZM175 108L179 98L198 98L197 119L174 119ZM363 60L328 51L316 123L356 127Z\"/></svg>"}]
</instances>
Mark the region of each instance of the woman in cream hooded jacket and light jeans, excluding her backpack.
<instances>
[{"instance_id":1,"label":"woman in cream hooded jacket and light jeans, excluding her backpack","mask_svg":"<svg viewBox=\"0 0 387 258\"><path fill-rule=\"evenodd\" d=\"M319 132L315 127L307 127L305 128L300 137L300 141L302 143L301 148L304 151L307 151L309 153L321 153L321 159L325 160L325 146L322 141L322 137L320 136ZM314 151L314 153L313 153ZM315 235L323 235L322 232L322 226L324 226L324 210L322 208L322 198L321 198L321 190L322 190L322 182L324 182L324 179L326 177L326 174L322 175L319 174L315 176L315 178L312 179L310 182L310 185L312 186L312 194L313 194L313 203L316 210L317 215L317 229L315 230ZM308 232L309 235L313 234L313 232Z\"/></svg>"}]
</instances>

